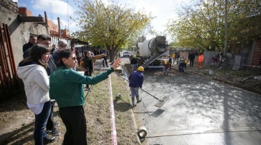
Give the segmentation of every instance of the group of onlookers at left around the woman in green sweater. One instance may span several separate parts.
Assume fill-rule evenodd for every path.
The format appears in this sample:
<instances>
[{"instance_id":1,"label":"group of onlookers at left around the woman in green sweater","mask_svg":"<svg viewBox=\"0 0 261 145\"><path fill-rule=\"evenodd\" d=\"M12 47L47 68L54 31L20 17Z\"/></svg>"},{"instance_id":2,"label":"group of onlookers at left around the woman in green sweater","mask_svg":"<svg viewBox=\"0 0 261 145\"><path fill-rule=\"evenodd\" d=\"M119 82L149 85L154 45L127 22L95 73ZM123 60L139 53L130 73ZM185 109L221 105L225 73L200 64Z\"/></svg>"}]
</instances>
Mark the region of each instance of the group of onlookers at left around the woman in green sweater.
<instances>
[{"instance_id":1,"label":"group of onlookers at left around the woman in green sweater","mask_svg":"<svg viewBox=\"0 0 261 145\"><path fill-rule=\"evenodd\" d=\"M23 80L27 107L34 113L34 144L48 144L60 135L54 121L54 103L58 104L59 115L66 127L63 144L87 144L87 124L84 116L84 86L94 85L108 78L120 66L118 58L111 68L91 77L93 61L103 59L104 66L109 52L90 56L84 52L80 67L84 75L76 71L78 60L73 49L67 49L64 40L51 46L51 38L46 35L30 36L23 45L23 60L17 67L18 77ZM90 90L89 90L90 91ZM52 135L52 136L51 136Z\"/></svg>"}]
</instances>

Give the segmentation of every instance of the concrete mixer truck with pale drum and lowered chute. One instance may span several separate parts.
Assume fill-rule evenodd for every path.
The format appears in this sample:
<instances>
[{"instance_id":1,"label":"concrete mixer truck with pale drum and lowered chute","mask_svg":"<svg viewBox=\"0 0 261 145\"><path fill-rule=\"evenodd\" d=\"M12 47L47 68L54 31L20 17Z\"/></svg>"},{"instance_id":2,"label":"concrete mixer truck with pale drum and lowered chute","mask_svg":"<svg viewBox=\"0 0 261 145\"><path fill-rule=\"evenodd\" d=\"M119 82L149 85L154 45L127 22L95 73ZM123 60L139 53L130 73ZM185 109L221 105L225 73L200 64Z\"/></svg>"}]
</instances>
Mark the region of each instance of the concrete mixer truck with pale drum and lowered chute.
<instances>
[{"instance_id":1,"label":"concrete mixer truck with pale drum and lowered chute","mask_svg":"<svg viewBox=\"0 0 261 145\"><path fill-rule=\"evenodd\" d=\"M166 36L157 36L150 40L145 40L133 48L133 55L139 57L139 66L144 68L162 68L162 55L167 51L168 43ZM165 58L166 60L166 58Z\"/></svg>"}]
</instances>

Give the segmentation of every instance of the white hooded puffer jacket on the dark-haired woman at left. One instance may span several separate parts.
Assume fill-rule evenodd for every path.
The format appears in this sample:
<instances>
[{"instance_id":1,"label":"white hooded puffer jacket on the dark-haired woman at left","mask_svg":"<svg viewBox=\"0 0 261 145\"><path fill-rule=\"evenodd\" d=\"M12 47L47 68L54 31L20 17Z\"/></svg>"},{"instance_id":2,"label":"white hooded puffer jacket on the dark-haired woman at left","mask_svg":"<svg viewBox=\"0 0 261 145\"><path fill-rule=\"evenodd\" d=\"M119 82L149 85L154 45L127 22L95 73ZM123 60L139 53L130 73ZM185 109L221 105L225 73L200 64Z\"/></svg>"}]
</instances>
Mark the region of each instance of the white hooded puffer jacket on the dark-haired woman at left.
<instances>
[{"instance_id":1,"label":"white hooded puffer jacket on the dark-haired woman at left","mask_svg":"<svg viewBox=\"0 0 261 145\"><path fill-rule=\"evenodd\" d=\"M29 64L17 67L17 75L23 80L27 102L40 104L50 101L49 77L43 66Z\"/></svg>"}]
</instances>

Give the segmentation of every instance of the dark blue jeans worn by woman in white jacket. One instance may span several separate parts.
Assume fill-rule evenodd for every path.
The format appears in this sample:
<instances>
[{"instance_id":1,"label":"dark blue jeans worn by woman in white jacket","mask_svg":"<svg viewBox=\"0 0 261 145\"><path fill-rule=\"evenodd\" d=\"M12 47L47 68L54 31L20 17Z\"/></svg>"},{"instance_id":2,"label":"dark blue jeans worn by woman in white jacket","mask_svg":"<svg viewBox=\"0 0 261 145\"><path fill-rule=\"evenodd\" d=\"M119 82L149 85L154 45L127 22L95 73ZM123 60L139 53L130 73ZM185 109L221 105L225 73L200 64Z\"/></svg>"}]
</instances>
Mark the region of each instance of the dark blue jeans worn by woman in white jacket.
<instances>
[{"instance_id":1,"label":"dark blue jeans worn by woman in white jacket","mask_svg":"<svg viewBox=\"0 0 261 145\"><path fill-rule=\"evenodd\" d=\"M34 144L43 144L43 138L47 136L45 126L51 111L51 101L45 102L40 114L34 114Z\"/></svg>"}]
</instances>

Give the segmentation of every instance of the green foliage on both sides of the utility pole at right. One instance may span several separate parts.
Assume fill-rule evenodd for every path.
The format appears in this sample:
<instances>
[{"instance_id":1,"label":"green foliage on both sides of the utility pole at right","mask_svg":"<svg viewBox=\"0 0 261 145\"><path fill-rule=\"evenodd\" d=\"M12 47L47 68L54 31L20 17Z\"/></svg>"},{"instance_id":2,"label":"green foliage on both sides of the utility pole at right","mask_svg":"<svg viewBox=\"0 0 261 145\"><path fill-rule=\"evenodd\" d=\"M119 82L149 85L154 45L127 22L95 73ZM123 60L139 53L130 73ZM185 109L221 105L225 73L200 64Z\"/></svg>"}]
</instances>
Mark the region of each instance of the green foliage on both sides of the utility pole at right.
<instances>
[{"instance_id":1,"label":"green foliage on both sides of the utility pole at right","mask_svg":"<svg viewBox=\"0 0 261 145\"><path fill-rule=\"evenodd\" d=\"M229 1L228 42L246 43L261 34L261 3L258 0ZM168 23L168 32L177 46L196 48L201 51L222 51L225 42L225 1L193 1L182 5L179 18Z\"/></svg>"}]
</instances>

